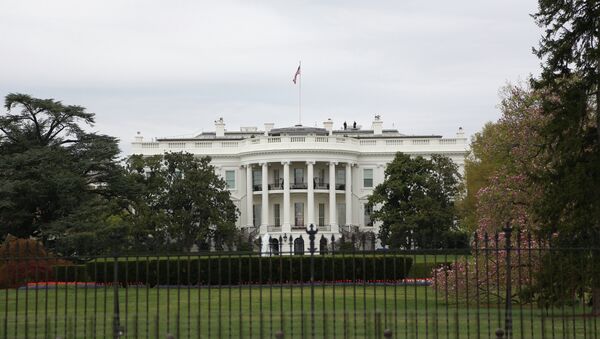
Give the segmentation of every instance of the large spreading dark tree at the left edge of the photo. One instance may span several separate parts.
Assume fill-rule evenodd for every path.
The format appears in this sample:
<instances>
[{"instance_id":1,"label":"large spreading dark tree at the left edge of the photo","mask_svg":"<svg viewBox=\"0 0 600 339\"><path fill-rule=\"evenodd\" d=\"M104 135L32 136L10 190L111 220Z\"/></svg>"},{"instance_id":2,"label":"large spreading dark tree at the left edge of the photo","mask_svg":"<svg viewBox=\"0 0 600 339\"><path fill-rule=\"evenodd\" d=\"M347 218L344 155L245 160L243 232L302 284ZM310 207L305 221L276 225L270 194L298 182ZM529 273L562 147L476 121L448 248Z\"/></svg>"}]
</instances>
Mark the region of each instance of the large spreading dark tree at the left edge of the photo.
<instances>
[{"instance_id":1,"label":"large spreading dark tree at the left edge of the photo","mask_svg":"<svg viewBox=\"0 0 600 339\"><path fill-rule=\"evenodd\" d=\"M64 254L76 252L68 243L102 246L94 234L111 214L108 201L125 189L117 140L84 130L93 126L94 114L81 106L9 94L5 108L0 116L0 236L35 236ZM92 213L99 208L105 213Z\"/></svg>"}]
</instances>

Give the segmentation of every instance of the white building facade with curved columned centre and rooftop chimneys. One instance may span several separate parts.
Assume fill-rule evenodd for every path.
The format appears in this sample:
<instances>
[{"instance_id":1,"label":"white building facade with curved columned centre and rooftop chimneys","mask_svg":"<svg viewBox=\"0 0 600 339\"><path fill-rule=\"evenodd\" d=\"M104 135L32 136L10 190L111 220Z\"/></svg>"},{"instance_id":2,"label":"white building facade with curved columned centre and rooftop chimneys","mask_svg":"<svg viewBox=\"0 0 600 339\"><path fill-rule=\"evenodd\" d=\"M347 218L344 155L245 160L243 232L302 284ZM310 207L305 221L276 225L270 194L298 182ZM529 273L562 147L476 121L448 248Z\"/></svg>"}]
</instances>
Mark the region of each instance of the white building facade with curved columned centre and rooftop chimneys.
<instances>
[{"instance_id":1,"label":"white building facade with curved columned centre and rooftop chimneys","mask_svg":"<svg viewBox=\"0 0 600 339\"><path fill-rule=\"evenodd\" d=\"M336 130L329 119L323 128L274 128L268 123L262 131L242 127L231 132L221 118L215 121L214 132L192 138L145 141L138 134L132 153L210 156L240 211L238 227L262 239L281 237L284 251L300 251L309 246L306 227L311 224L318 229L317 239L321 235L339 239L352 230L378 233L377 223L370 219L368 197L383 182L385 167L397 152L442 154L462 172L467 147L462 129L454 138L409 136L383 129L379 116L371 129L354 123Z\"/></svg>"}]
</instances>

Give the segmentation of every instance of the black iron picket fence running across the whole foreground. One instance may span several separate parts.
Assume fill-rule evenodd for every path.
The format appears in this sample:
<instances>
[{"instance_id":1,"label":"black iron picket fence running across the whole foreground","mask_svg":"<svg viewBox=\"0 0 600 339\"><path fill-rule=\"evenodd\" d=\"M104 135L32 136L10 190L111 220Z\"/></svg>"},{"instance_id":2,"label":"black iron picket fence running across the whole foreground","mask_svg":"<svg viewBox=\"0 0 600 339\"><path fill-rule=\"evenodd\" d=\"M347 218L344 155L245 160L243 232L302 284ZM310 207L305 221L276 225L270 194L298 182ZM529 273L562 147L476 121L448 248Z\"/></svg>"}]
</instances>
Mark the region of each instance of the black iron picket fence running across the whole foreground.
<instances>
[{"instance_id":1,"label":"black iron picket fence running across the whole foreground","mask_svg":"<svg viewBox=\"0 0 600 339\"><path fill-rule=\"evenodd\" d=\"M7 242L0 337L598 337L598 247L510 229L458 249L323 239L311 234L308 250L282 238L266 252L92 257Z\"/></svg>"}]
</instances>

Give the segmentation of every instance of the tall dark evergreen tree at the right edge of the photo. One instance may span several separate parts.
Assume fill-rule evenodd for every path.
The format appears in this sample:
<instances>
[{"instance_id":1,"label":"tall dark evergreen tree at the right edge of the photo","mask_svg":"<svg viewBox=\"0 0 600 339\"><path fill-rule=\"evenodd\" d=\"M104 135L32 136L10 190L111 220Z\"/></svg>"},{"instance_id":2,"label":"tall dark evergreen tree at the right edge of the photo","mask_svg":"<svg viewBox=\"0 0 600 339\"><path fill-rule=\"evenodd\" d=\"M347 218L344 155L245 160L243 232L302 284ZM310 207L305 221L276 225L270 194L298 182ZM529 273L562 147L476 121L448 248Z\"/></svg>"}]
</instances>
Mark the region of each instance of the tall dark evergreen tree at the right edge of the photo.
<instances>
[{"instance_id":1,"label":"tall dark evergreen tree at the right edge of the photo","mask_svg":"<svg viewBox=\"0 0 600 339\"><path fill-rule=\"evenodd\" d=\"M543 88L542 112L548 124L541 130L542 145L552 154L532 176L543 184L537 214L555 243L592 248L600 240L600 2L596 0L540 0L533 16L545 34L535 50L542 74L533 81ZM591 252L562 260L565 276L594 267ZM555 261L557 262L557 261ZM545 267L551 269L551 267ZM556 292L568 298L591 290L593 313L600 314L600 275L583 274L577 284ZM586 288L583 288L583 287Z\"/></svg>"}]
</instances>

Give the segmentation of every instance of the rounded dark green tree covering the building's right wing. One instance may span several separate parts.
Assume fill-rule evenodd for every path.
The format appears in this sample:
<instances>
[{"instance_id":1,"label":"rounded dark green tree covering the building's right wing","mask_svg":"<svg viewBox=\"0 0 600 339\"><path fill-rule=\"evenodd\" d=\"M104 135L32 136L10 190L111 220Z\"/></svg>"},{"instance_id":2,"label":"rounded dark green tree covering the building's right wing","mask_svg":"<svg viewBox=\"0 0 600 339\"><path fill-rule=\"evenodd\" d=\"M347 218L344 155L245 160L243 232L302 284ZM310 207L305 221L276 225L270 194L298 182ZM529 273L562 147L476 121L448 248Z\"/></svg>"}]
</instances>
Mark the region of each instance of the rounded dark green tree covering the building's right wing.
<instances>
[{"instance_id":1,"label":"rounded dark green tree covering the building's right wing","mask_svg":"<svg viewBox=\"0 0 600 339\"><path fill-rule=\"evenodd\" d=\"M460 190L458 168L450 158L397 153L369 197L377 207L373 220L381 222L380 240L392 248L442 245L454 231L454 199Z\"/></svg>"}]
</instances>

